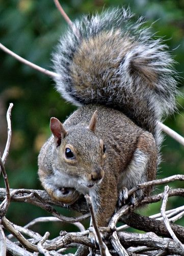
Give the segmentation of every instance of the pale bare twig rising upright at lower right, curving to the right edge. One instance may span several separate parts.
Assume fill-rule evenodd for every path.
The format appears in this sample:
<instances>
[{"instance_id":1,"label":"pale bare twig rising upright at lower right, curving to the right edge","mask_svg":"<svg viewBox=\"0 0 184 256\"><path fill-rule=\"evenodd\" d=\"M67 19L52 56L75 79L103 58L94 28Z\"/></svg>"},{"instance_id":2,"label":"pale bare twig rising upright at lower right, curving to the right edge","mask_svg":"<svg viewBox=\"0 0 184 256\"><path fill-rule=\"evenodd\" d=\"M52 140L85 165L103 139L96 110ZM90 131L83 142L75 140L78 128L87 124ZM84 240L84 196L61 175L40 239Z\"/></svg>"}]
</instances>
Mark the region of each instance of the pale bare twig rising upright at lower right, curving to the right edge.
<instances>
[{"instance_id":1,"label":"pale bare twig rising upright at lower right, curving to the right edge","mask_svg":"<svg viewBox=\"0 0 184 256\"><path fill-rule=\"evenodd\" d=\"M184 245L177 239L175 233L173 232L169 220L166 216L166 204L167 204L167 200L168 200L168 191L169 191L169 186L165 186L165 190L164 190L164 197L163 197L163 203L162 203L162 207L161 207L161 214L163 216L163 220L164 220L164 224L167 228L167 230L169 231L171 237L173 238L173 240L176 242L176 244L179 246L179 248L181 250L183 250L184 253Z\"/></svg>"}]
</instances>

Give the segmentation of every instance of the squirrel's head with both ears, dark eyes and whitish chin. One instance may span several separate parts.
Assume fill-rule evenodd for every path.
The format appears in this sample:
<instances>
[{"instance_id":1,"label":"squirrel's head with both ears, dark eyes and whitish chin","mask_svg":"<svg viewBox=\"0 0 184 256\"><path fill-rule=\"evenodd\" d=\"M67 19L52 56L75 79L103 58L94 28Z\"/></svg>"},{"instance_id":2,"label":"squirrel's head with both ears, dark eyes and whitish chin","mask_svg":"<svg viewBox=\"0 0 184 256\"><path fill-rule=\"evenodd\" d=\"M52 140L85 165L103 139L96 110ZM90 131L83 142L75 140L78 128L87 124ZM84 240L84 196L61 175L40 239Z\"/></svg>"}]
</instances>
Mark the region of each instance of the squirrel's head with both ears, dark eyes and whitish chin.
<instances>
[{"instance_id":1,"label":"squirrel's head with both ears, dark eyes and whitish chin","mask_svg":"<svg viewBox=\"0 0 184 256\"><path fill-rule=\"evenodd\" d=\"M67 131L57 118L50 119L56 148L54 168L62 175L76 178L80 187L93 187L104 176L106 146L95 135L96 122L96 111L88 125L73 125Z\"/></svg>"}]
</instances>

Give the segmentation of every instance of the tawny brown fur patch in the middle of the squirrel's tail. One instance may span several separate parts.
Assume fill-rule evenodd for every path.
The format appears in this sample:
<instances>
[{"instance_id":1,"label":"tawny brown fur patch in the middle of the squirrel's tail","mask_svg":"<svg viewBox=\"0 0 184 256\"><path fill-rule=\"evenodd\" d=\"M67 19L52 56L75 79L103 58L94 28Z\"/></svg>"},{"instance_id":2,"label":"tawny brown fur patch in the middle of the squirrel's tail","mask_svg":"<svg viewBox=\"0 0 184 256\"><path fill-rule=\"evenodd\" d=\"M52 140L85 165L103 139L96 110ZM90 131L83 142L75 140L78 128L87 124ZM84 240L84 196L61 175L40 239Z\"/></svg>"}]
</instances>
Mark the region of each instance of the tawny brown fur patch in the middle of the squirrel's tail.
<instances>
[{"instance_id":1,"label":"tawny brown fur patch in the middle of the squirrel's tail","mask_svg":"<svg viewBox=\"0 0 184 256\"><path fill-rule=\"evenodd\" d=\"M93 87L93 90L97 90L99 84L96 81L106 84L107 79L115 78L123 57L133 47L134 43L127 36L122 38L120 30L103 31L84 39L70 65L75 89Z\"/></svg>"}]
</instances>

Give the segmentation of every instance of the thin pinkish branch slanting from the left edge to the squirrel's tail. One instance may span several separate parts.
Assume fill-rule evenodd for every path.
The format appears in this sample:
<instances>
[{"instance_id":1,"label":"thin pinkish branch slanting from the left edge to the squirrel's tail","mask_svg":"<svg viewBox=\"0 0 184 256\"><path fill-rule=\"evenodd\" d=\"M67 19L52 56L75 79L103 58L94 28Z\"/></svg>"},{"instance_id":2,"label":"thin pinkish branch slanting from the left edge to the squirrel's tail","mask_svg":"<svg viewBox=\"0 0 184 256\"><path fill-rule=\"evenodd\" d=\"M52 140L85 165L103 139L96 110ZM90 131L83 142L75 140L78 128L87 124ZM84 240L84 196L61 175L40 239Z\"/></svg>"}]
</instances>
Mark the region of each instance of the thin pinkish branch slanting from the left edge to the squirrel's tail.
<instances>
[{"instance_id":1,"label":"thin pinkish branch slanting from the left edge to the squirrel's tail","mask_svg":"<svg viewBox=\"0 0 184 256\"><path fill-rule=\"evenodd\" d=\"M20 62L24 63L25 65L28 65L28 66L31 67L32 69L35 69L35 70L37 70L37 71L39 71L39 72L41 72L41 73L43 73L43 74L45 74L45 75L47 75L47 76L50 76L50 77L57 77L57 78L60 77L59 74L57 74L57 73L55 73L55 72L52 72L52 71L49 71L49 70L46 70L46 69L43 69L43 68L41 68L41 67L35 65L34 63L28 61L27 59L24 59L24 58L20 57L20 56L17 55L16 53L10 51L8 48L6 48L6 47L5 47L4 45L2 45L1 43L0 43L0 48L1 48L4 52L6 52L6 53L8 53L9 55L13 56L14 58L18 59Z\"/></svg>"}]
</instances>

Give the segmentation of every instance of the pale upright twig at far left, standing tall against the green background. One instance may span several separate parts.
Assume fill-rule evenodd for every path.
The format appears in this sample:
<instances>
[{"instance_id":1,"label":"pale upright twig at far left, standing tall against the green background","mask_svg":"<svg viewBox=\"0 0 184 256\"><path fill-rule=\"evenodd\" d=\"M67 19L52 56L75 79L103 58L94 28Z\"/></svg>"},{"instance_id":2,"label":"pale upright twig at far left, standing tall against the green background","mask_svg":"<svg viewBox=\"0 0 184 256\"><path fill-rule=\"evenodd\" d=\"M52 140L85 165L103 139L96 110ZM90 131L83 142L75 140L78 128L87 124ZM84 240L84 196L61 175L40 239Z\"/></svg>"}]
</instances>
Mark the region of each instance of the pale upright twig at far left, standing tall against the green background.
<instances>
[{"instance_id":1,"label":"pale upright twig at far left, standing tall against the green background","mask_svg":"<svg viewBox=\"0 0 184 256\"><path fill-rule=\"evenodd\" d=\"M3 157L2 157L2 161L3 161L4 164L5 164L6 159L8 157L10 142L11 142L11 137L12 137L12 129L11 129L11 111L12 111L12 108L13 108L13 103L10 103L8 111L7 111L8 138L7 138L5 151L4 151Z\"/></svg>"}]
</instances>

